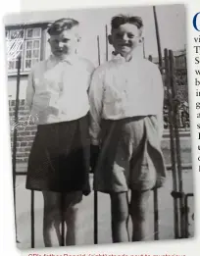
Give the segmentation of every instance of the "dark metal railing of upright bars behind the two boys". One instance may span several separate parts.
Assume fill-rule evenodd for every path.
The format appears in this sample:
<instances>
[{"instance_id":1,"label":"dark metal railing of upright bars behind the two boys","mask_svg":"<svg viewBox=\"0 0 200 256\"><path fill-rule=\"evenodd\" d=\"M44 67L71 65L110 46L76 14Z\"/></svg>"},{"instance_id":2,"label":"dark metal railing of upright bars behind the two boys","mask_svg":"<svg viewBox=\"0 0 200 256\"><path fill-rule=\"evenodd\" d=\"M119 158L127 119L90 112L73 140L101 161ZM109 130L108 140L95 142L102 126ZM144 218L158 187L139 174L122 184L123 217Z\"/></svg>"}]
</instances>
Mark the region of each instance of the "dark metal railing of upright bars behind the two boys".
<instances>
[{"instance_id":1,"label":"dark metal railing of upright bars behind the two boys","mask_svg":"<svg viewBox=\"0 0 200 256\"><path fill-rule=\"evenodd\" d=\"M108 42L107 42L108 44ZM108 49L108 45L107 48ZM99 37L97 37L97 50L98 50L98 62L100 65L100 44ZM108 54L108 50L107 50ZM176 89L175 89L175 67L174 56L172 50L165 49L165 86L167 87L168 99L169 99L169 125L170 125L170 142L171 142L171 166L168 170L172 170L173 173L173 191L172 196L174 198L174 233L175 238L186 238L189 236L188 232L188 197L193 196L193 193L184 194L183 192L183 180L181 156L180 156L180 144L179 144L179 131L177 127L177 105L176 105ZM19 91L20 91L20 64L21 57L19 57L18 77L17 77L17 95L16 95L16 111L15 122L18 123L18 111L19 111ZM108 57L107 57L108 59ZM151 60L151 58L150 58ZM14 128L14 140L13 140L13 185L14 185L14 202L15 202L15 218L16 218L16 177L25 176L25 172L16 172L16 151L17 151L17 136L18 129ZM154 190L153 202L154 202L154 239L159 239L159 206L158 206L158 190ZM31 247L35 246L35 217L34 217L34 191L30 194L30 229L31 229ZM62 225L63 245L64 245L64 222ZM16 227L17 234L17 227ZM98 193L94 191L94 244L98 243Z\"/></svg>"}]
</instances>

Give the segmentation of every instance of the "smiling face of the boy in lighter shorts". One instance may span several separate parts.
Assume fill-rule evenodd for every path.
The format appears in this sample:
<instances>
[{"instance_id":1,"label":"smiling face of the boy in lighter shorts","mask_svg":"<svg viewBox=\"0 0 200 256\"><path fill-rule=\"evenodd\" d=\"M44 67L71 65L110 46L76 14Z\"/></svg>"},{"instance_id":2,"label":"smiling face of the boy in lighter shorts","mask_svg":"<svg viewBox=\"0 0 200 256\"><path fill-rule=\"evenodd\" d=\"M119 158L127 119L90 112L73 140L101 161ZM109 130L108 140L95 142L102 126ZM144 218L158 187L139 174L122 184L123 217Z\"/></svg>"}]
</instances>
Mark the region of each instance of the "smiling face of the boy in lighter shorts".
<instances>
[{"instance_id":1,"label":"smiling face of the boy in lighter shorts","mask_svg":"<svg viewBox=\"0 0 200 256\"><path fill-rule=\"evenodd\" d=\"M132 50L140 44L140 30L132 24L121 25L117 29L113 29L109 41L115 50L123 56L131 54Z\"/></svg>"}]
</instances>

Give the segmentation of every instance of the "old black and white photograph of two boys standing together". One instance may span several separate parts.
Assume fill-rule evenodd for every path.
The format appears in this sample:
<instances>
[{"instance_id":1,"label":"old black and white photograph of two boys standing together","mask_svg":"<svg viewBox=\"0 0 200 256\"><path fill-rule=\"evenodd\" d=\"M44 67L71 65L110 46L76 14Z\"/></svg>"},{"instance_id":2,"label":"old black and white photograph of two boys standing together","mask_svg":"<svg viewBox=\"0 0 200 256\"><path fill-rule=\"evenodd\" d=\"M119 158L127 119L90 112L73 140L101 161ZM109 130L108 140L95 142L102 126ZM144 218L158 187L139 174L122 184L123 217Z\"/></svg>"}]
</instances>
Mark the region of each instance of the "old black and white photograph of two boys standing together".
<instances>
[{"instance_id":1,"label":"old black and white photograph of two boys standing together","mask_svg":"<svg viewBox=\"0 0 200 256\"><path fill-rule=\"evenodd\" d=\"M194 236L186 13L4 18L18 248Z\"/></svg>"}]
</instances>

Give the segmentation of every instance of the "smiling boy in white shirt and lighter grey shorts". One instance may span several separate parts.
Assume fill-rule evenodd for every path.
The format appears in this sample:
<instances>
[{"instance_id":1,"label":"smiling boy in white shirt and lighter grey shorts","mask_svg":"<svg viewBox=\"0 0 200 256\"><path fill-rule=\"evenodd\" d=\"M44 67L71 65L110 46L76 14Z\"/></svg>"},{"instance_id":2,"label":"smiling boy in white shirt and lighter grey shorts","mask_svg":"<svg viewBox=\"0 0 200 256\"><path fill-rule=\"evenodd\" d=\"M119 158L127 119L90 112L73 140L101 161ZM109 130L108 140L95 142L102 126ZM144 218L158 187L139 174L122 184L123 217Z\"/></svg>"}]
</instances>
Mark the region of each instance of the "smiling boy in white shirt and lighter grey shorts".
<instances>
[{"instance_id":1,"label":"smiling boy in white shirt and lighter grey shorts","mask_svg":"<svg viewBox=\"0 0 200 256\"><path fill-rule=\"evenodd\" d=\"M166 178L161 151L164 87L157 66L140 54L141 18L117 16L111 26L114 58L95 70L89 89L90 135L94 189L110 194L113 241L125 242L128 215L131 240L148 235L150 191Z\"/></svg>"}]
</instances>

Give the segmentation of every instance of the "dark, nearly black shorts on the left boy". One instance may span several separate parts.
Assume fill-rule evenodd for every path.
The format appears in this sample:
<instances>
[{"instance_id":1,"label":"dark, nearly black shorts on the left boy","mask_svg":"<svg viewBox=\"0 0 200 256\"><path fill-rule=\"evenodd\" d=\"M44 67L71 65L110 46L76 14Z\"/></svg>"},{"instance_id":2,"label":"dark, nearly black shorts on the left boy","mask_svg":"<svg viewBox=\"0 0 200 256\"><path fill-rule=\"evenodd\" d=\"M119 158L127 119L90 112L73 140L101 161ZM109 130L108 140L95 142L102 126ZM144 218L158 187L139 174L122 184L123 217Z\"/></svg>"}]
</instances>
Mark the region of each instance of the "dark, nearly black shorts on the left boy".
<instances>
[{"instance_id":1,"label":"dark, nearly black shorts on the left boy","mask_svg":"<svg viewBox=\"0 0 200 256\"><path fill-rule=\"evenodd\" d=\"M89 192L88 124L87 115L38 126L28 159L27 189Z\"/></svg>"}]
</instances>

